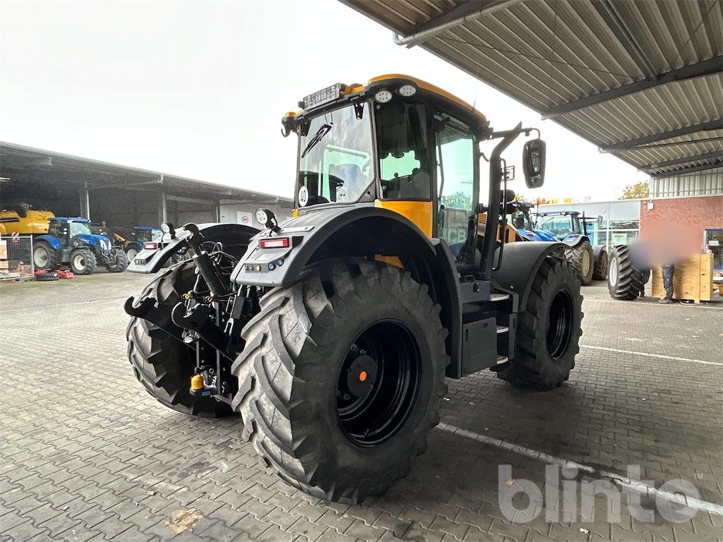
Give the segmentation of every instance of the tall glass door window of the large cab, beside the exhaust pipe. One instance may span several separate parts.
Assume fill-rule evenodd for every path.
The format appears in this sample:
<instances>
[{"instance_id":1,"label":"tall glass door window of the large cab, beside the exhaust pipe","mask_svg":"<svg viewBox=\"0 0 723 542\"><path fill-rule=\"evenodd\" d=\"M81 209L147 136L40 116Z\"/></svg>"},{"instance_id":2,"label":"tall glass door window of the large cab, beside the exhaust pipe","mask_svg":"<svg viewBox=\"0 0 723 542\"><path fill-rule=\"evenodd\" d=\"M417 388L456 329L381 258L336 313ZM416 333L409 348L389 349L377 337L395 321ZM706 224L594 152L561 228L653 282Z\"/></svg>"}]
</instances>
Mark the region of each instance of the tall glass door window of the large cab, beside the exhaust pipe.
<instances>
[{"instance_id":1,"label":"tall glass door window of the large cab, beside the exhaust pipe","mask_svg":"<svg viewBox=\"0 0 723 542\"><path fill-rule=\"evenodd\" d=\"M468 125L444 113L435 114L437 158L437 236L455 256L474 215L474 134Z\"/></svg>"}]
</instances>

